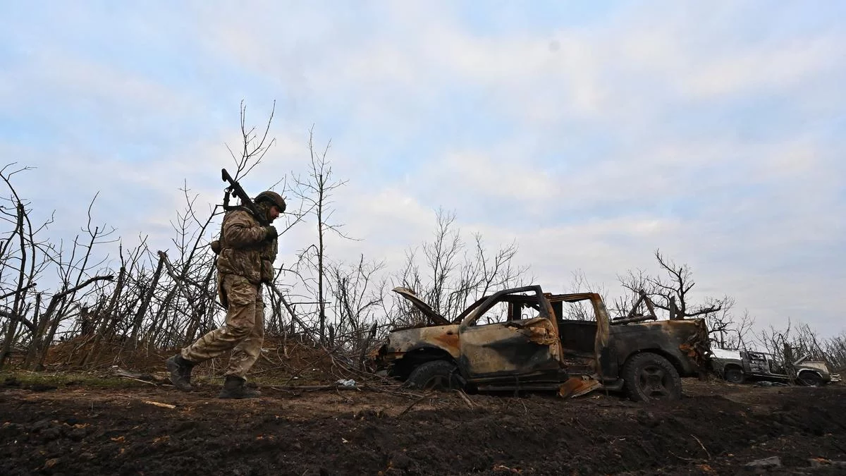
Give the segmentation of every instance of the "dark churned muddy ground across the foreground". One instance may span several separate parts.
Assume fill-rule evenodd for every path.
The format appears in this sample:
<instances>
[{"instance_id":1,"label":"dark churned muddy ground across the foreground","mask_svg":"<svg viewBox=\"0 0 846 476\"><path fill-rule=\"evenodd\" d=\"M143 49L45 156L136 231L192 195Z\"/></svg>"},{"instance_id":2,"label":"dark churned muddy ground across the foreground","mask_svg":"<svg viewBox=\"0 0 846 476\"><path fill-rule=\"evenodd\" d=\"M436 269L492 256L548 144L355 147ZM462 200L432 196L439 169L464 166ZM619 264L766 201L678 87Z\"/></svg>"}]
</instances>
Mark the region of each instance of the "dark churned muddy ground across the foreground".
<instances>
[{"instance_id":1,"label":"dark churned muddy ground across the foreground","mask_svg":"<svg viewBox=\"0 0 846 476\"><path fill-rule=\"evenodd\" d=\"M5 379L5 384L3 384ZM838 474L846 387L685 380L682 401L0 379L0 474ZM173 405L159 407L149 402Z\"/></svg>"}]
</instances>

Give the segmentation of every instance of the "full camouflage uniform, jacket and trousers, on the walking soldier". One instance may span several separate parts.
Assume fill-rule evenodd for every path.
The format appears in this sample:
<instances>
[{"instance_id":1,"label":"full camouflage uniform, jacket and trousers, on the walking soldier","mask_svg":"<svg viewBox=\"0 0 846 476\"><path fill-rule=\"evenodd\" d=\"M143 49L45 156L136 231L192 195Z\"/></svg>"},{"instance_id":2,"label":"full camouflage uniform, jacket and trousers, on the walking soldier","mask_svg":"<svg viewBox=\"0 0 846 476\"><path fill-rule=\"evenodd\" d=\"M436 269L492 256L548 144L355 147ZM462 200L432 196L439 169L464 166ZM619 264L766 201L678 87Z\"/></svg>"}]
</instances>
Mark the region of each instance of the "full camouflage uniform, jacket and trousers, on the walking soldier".
<instances>
[{"instance_id":1,"label":"full camouflage uniform, jacket and trousers, on the walking soldier","mask_svg":"<svg viewBox=\"0 0 846 476\"><path fill-rule=\"evenodd\" d=\"M270 205L261 203L266 213ZM180 352L200 363L232 350L226 375L244 378L261 354L264 341L264 302L261 283L273 280L277 240L266 240L266 229L242 209L223 217L217 257L217 292L227 308L226 322Z\"/></svg>"}]
</instances>

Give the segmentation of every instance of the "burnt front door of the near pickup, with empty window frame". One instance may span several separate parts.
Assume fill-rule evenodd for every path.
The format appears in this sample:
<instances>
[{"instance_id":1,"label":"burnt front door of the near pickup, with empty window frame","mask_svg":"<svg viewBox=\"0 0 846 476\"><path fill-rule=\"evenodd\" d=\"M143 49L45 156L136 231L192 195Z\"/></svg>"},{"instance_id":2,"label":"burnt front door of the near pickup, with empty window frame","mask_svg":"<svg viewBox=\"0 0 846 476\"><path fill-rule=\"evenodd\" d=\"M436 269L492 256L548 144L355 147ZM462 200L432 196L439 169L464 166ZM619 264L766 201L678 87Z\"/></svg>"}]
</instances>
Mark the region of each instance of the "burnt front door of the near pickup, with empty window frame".
<instances>
[{"instance_id":1,"label":"burnt front door of the near pickup, with empty window frame","mask_svg":"<svg viewBox=\"0 0 846 476\"><path fill-rule=\"evenodd\" d=\"M540 286L497 293L482 302L459 325L459 351L471 379L558 373L561 340Z\"/></svg>"}]
</instances>

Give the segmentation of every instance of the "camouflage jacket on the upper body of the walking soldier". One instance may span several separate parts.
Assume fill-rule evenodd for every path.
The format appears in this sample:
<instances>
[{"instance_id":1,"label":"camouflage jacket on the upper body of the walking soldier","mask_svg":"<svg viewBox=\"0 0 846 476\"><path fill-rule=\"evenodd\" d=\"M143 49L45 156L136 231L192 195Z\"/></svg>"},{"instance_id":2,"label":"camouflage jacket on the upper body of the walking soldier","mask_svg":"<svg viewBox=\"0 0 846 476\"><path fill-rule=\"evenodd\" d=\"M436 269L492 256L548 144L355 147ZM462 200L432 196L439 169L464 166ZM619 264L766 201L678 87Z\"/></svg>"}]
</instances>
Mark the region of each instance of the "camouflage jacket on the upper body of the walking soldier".
<instances>
[{"instance_id":1,"label":"camouflage jacket on the upper body of the walking soldier","mask_svg":"<svg viewBox=\"0 0 846 476\"><path fill-rule=\"evenodd\" d=\"M273 280L277 241L265 241L265 230L253 215L234 209L223 217L217 272L238 274L250 283Z\"/></svg>"}]
</instances>

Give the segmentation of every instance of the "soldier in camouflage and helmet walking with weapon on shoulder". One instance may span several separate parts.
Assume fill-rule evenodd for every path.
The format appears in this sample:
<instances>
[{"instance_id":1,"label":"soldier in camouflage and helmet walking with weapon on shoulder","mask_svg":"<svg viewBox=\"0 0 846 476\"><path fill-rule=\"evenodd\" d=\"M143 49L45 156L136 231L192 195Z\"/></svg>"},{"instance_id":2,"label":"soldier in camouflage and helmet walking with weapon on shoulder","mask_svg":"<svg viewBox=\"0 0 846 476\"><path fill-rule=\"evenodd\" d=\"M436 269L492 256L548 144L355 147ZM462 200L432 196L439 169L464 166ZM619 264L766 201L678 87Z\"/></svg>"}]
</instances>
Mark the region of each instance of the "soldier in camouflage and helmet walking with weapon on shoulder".
<instances>
[{"instance_id":1,"label":"soldier in camouflage and helmet walking with weapon on shoulder","mask_svg":"<svg viewBox=\"0 0 846 476\"><path fill-rule=\"evenodd\" d=\"M275 191L255 197L255 217L246 208L234 208L223 217L220 241L211 244L217 253L217 293L226 307L226 322L165 361L170 381L182 391L191 387L191 369L197 363L231 350L226 381L218 398L255 398L257 390L244 388L244 375L258 359L264 340L264 302L261 283L273 280L277 230L271 223L284 213L285 201Z\"/></svg>"}]
</instances>

